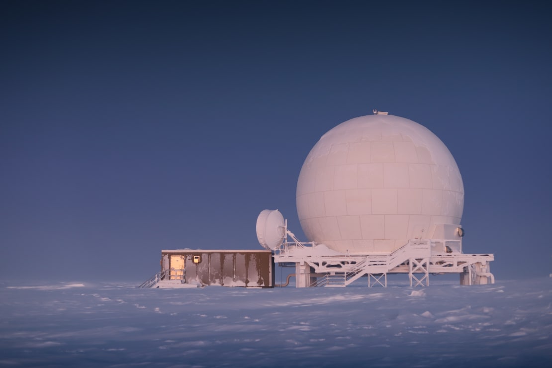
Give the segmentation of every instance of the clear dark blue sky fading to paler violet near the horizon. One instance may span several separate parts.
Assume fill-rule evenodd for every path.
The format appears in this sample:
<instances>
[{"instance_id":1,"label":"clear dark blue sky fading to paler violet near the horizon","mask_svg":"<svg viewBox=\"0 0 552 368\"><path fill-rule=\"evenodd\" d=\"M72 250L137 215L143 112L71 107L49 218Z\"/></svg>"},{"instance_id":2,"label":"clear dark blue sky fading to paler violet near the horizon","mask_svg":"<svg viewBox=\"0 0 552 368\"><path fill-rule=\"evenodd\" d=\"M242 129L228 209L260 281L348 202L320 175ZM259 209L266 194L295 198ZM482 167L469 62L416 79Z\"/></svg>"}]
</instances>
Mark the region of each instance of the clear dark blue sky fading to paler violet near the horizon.
<instances>
[{"instance_id":1,"label":"clear dark blue sky fading to paler violet near the horizon","mask_svg":"<svg viewBox=\"0 0 552 368\"><path fill-rule=\"evenodd\" d=\"M543 2L0 3L0 278L141 280L259 249L326 131L412 119L463 175L466 253L552 271ZM306 240L306 239L305 239Z\"/></svg>"}]
</instances>

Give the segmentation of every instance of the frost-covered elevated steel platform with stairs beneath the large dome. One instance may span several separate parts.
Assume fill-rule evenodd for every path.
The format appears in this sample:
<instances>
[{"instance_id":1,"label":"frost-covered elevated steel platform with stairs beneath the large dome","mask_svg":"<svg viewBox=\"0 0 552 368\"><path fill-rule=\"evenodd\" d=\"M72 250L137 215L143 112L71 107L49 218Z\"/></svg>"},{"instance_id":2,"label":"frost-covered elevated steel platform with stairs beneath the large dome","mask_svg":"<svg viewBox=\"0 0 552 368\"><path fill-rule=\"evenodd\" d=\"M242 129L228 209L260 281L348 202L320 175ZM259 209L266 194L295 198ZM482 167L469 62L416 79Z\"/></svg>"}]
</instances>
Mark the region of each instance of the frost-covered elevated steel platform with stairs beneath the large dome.
<instances>
[{"instance_id":1,"label":"frost-covered elevated steel platform with stairs beneath the large dome","mask_svg":"<svg viewBox=\"0 0 552 368\"><path fill-rule=\"evenodd\" d=\"M442 249L445 249L443 252ZM296 287L344 287L363 276L387 286L388 274L408 274L410 286L429 286L429 274L459 274L461 285L494 284L493 254L463 254L452 240L411 239L390 254L339 254L314 243L284 242L275 263L295 263Z\"/></svg>"}]
</instances>

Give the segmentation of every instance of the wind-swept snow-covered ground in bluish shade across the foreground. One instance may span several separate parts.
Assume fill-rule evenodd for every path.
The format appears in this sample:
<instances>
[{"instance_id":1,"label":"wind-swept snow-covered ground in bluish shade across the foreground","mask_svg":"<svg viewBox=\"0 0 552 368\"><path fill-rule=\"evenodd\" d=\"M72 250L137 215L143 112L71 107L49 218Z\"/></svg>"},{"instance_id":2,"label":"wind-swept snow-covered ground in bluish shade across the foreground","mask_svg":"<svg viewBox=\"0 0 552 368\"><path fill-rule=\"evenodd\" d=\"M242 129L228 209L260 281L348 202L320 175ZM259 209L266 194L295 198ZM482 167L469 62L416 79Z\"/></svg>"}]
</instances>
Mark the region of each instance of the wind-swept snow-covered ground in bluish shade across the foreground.
<instances>
[{"instance_id":1,"label":"wind-swept snow-covered ground in bluish shade across the foreground","mask_svg":"<svg viewBox=\"0 0 552 368\"><path fill-rule=\"evenodd\" d=\"M552 279L429 287L0 284L0 366L550 367Z\"/></svg>"}]
</instances>

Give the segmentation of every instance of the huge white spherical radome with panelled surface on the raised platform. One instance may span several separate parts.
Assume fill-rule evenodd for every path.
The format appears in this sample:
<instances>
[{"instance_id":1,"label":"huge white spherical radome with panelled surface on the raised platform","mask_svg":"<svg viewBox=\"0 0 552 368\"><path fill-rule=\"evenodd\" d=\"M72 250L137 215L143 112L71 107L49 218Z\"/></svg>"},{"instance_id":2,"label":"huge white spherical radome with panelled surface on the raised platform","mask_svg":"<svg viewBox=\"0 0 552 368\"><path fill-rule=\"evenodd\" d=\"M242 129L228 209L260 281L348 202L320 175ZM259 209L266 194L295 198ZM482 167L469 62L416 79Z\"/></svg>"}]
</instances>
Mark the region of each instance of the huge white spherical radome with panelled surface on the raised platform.
<instances>
[{"instance_id":1,"label":"huge white spherical radome with panelled surface on the raised platform","mask_svg":"<svg viewBox=\"0 0 552 368\"><path fill-rule=\"evenodd\" d=\"M297 183L309 241L342 253L390 253L459 225L464 185L452 154L426 127L393 115L339 124L312 148Z\"/></svg>"}]
</instances>

